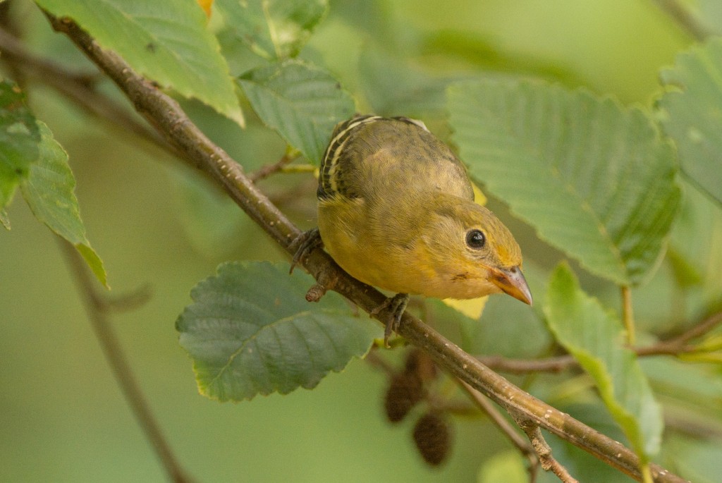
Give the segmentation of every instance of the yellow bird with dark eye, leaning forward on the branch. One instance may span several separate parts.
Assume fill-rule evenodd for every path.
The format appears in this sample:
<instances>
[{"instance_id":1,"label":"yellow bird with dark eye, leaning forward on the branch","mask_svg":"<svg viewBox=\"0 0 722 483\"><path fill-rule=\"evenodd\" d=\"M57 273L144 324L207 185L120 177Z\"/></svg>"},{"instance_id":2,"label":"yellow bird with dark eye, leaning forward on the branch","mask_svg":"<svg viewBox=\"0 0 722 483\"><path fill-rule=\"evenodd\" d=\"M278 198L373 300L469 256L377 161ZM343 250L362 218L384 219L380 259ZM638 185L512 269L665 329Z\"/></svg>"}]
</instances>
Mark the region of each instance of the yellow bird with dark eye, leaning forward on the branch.
<instances>
[{"instance_id":1,"label":"yellow bird with dark eye, leaning forward on the branch","mask_svg":"<svg viewBox=\"0 0 722 483\"><path fill-rule=\"evenodd\" d=\"M518 243L474 203L464 165L421 121L356 116L336 125L317 195L318 234L336 263L396 292L372 313L393 313L385 340L409 295L505 292L531 305Z\"/></svg>"}]
</instances>

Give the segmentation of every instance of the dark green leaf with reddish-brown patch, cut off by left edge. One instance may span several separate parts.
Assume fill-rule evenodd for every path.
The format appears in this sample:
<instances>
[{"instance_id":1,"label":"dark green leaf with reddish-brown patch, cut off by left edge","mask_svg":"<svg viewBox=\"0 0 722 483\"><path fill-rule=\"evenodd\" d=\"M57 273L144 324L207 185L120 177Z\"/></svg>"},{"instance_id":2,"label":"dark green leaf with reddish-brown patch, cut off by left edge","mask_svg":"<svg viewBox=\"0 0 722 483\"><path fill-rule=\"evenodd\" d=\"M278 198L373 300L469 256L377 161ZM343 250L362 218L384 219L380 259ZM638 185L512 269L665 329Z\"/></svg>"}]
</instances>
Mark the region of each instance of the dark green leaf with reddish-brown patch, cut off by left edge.
<instances>
[{"instance_id":1,"label":"dark green leaf with reddish-brown patch, cut off by left edge","mask_svg":"<svg viewBox=\"0 0 722 483\"><path fill-rule=\"evenodd\" d=\"M38 143L40 131L25 94L12 82L0 81L0 210L12 201L30 165L38 160ZM0 218L9 228L7 214Z\"/></svg>"}]
</instances>

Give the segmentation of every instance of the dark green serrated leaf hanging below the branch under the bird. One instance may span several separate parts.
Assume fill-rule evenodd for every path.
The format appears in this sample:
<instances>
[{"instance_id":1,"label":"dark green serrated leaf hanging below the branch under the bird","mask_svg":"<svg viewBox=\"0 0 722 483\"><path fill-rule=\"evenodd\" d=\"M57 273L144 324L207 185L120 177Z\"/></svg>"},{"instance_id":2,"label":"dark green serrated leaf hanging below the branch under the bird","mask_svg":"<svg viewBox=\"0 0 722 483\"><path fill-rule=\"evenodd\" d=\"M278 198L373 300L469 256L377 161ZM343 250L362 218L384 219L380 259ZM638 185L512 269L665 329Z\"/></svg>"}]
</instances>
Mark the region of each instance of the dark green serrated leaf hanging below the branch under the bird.
<instances>
[{"instance_id":1,"label":"dark green serrated leaf hanging below the branch under the bird","mask_svg":"<svg viewBox=\"0 0 722 483\"><path fill-rule=\"evenodd\" d=\"M193 359L199 390L218 401L310 389L330 370L362 357L380 334L377 324L352 316L342 297L305 300L308 274L288 264L235 262L191 292L193 303L176 322Z\"/></svg>"}]
</instances>

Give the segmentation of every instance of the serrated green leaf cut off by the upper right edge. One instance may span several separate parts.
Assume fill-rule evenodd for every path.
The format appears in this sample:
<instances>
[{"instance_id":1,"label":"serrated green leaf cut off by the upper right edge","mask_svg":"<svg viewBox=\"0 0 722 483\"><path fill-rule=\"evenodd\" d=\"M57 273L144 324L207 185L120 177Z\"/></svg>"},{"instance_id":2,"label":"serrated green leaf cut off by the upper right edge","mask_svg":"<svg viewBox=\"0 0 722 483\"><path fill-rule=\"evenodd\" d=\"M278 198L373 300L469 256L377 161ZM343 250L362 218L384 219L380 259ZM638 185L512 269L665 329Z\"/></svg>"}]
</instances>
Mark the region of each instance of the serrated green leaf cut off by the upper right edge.
<instances>
[{"instance_id":1,"label":"serrated green leaf cut off by the upper right edge","mask_svg":"<svg viewBox=\"0 0 722 483\"><path fill-rule=\"evenodd\" d=\"M722 204L722 38L680 53L661 82L661 123L682 172Z\"/></svg>"}]
</instances>

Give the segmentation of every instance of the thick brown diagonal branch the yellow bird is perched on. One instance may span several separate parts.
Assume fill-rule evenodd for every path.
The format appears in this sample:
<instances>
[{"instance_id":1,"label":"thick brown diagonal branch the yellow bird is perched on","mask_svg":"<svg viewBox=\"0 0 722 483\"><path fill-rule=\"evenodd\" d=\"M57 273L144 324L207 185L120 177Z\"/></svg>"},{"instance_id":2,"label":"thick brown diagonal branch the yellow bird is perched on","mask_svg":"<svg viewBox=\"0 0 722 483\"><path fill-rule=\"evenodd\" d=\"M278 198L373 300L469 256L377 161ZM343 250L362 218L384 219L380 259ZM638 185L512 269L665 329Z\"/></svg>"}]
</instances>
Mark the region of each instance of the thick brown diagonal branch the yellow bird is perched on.
<instances>
[{"instance_id":1,"label":"thick brown diagonal branch the yellow bird is perched on","mask_svg":"<svg viewBox=\"0 0 722 483\"><path fill-rule=\"evenodd\" d=\"M100 48L90 35L70 19L58 19L51 15L48 15L48 18L56 30L69 35L71 40L118 84L139 113L142 113L168 142L194 165L209 173L233 201L288 253L295 251L293 241L300 235L300 230L256 188L237 162L210 142L183 113L175 100L158 90L152 82L136 74L116 53ZM325 284L324 280L334 281L332 287L325 284L326 288L339 292L366 312L377 308L386 300L386 295L346 274L323 250L312 251L302 262L305 269L322 284ZM418 318L404 313L399 333L410 343L424 349L449 373L464 380L508 411L523 414L539 427L559 435L632 478L642 479L640 461L630 449L517 388ZM656 465L652 466L652 473L657 482L684 482L682 478Z\"/></svg>"}]
</instances>

